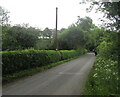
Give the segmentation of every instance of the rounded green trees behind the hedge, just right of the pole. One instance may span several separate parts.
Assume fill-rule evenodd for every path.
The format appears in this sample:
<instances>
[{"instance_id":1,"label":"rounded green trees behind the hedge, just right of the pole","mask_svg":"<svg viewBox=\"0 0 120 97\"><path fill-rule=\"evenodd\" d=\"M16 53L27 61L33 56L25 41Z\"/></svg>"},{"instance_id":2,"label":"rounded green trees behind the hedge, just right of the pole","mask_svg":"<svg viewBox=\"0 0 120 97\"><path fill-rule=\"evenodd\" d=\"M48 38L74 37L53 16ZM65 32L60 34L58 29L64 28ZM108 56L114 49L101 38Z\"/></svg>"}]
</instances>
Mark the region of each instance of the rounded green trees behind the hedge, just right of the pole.
<instances>
[{"instance_id":1,"label":"rounded green trees behind the hedge, just right of the pole","mask_svg":"<svg viewBox=\"0 0 120 97\"><path fill-rule=\"evenodd\" d=\"M92 51L102 37L104 29L96 27L89 17L78 18L68 29L62 29L59 34L60 49L79 49L81 47Z\"/></svg>"}]
</instances>

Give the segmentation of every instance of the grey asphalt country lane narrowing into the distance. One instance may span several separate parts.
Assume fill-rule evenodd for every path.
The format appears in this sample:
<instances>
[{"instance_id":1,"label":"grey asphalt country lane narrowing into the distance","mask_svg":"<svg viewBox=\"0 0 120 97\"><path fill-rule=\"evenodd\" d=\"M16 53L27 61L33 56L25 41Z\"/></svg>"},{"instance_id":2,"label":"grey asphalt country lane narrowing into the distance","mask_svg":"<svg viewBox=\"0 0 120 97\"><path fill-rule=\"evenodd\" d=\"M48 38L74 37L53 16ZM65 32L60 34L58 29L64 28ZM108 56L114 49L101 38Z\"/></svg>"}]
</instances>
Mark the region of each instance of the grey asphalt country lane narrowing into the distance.
<instances>
[{"instance_id":1,"label":"grey asphalt country lane narrowing into the distance","mask_svg":"<svg viewBox=\"0 0 120 97\"><path fill-rule=\"evenodd\" d=\"M3 86L3 95L80 95L95 61L94 53Z\"/></svg>"}]
</instances>

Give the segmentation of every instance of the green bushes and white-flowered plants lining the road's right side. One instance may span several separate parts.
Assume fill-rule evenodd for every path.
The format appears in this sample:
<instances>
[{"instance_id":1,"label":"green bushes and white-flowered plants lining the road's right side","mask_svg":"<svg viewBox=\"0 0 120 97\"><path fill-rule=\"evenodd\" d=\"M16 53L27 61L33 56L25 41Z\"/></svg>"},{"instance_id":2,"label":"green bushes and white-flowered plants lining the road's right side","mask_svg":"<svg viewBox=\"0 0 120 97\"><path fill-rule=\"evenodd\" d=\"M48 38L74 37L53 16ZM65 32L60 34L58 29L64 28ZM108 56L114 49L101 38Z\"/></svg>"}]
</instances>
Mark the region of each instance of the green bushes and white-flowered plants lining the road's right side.
<instances>
[{"instance_id":1,"label":"green bushes and white-flowered plants lining the road's right side","mask_svg":"<svg viewBox=\"0 0 120 97\"><path fill-rule=\"evenodd\" d=\"M86 95L119 94L118 33L106 31L97 47L97 58L86 84Z\"/></svg>"}]
</instances>

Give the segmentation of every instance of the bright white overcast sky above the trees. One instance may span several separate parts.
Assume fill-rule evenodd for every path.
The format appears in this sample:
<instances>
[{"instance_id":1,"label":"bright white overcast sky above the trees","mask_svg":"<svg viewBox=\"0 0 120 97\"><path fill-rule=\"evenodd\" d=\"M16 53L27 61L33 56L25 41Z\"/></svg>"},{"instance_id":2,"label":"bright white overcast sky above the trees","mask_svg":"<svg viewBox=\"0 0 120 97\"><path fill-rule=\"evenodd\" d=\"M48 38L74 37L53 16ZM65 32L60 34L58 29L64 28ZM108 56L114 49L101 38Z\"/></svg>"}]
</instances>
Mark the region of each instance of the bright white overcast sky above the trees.
<instances>
[{"instance_id":1,"label":"bright white overcast sky above the trees","mask_svg":"<svg viewBox=\"0 0 120 97\"><path fill-rule=\"evenodd\" d=\"M10 11L12 24L29 23L33 27L55 28L55 9L58 7L58 29L67 28L77 21L77 16L89 16L99 24L102 14L86 13L89 4L79 4L80 0L1 0L0 6Z\"/></svg>"}]
</instances>

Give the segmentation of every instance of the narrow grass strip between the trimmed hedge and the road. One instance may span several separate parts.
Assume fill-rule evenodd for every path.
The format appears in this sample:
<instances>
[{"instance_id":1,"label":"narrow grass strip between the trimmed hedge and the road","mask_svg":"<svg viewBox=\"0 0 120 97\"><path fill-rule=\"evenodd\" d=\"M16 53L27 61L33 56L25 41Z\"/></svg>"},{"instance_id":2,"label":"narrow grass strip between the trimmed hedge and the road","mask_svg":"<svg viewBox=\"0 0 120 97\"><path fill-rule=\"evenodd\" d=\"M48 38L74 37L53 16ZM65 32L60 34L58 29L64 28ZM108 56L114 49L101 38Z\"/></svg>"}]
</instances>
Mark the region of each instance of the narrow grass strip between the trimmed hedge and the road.
<instances>
[{"instance_id":1,"label":"narrow grass strip between the trimmed hedge and the road","mask_svg":"<svg viewBox=\"0 0 120 97\"><path fill-rule=\"evenodd\" d=\"M23 78L23 77L32 76L36 73L40 73L42 71L45 71L45 70L50 69L52 67L55 67L57 65L63 64L65 62L71 61L71 60L76 59L78 57L80 57L80 56L76 56L74 58L62 60L62 61L52 63L52 64L48 64L48 65L45 65L45 66L35 67L35 68L32 68L32 69L23 70L23 71L19 71L19 72L13 73L13 74L6 75L5 77L2 77L2 83L3 83L3 85L5 85L7 83L13 82L13 81L18 80L18 79Z\"/></svg>"}]
</instances>

